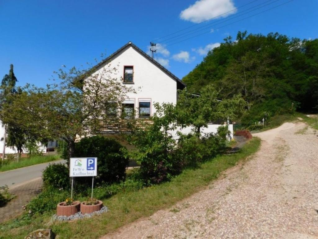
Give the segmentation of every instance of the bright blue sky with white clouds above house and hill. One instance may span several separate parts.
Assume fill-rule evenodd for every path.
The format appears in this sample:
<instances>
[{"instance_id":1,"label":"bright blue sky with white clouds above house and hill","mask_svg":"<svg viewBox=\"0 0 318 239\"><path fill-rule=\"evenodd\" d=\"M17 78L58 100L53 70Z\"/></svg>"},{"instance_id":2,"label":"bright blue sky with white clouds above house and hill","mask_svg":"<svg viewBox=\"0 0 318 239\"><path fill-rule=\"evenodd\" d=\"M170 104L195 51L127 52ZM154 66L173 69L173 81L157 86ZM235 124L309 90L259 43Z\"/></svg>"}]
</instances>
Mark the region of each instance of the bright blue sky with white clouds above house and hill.
<instances>
[{"instance_id":1,"label":"bright blue sky with white clouds above house and hill","mask_svg":"<svg viewBox=\"0 0 318 239\"><path fill-rule=\"evenodd\" d=\"M166 41L158 44L156 57L173 74L182 78L202 61L209 49L218 46L228 35L235 38L238 31L279 32L301 39L317 38L317 0L294 0L227 25L287 1L0 0L0 78L8 73L9 65L13 63L18 85L45 86L50 83L53 71L61 65L78 67L86 62L94 63L94 58L100 60L101 53L109 55L128 41L147 52L150 41L161 40ZM240 7L245 4L248 5ZM258 10L246 13L257 5L260 7ZM190 27L225 12L228 13ZM206 30L185 38L208 33L182 42L178 41L183 38L168 43L169 37L158 39L183 28L190 27L187 29L190 31L200 26ZM187 31L179 34L191 33ZM170 45L175 42L177 44Z\"/></svg>"}]
</instances>

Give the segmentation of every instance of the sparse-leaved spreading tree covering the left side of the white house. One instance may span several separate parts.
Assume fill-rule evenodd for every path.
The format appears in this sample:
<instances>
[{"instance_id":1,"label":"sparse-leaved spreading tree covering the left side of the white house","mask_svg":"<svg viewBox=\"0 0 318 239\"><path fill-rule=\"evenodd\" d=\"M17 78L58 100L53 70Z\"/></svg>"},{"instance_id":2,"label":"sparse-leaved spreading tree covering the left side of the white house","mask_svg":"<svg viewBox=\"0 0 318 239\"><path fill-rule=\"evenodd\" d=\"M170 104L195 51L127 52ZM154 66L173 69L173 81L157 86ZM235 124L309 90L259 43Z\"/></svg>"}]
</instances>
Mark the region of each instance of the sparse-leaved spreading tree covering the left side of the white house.
<instances>
[{"instance_id":1,"label":"sparse-leaved spreading tree covering the left side of the white house","mask_svg":"<svg viewBox=\"0 0 318 239\"><path fill-rule=\"evenodd\" d=\"M64 140L72 157L76 139L107 128L120 130L122 122L110 117L108 108L133 90L122 85L116 72L107 64L98 69L59 69L57 83L46 88L27 84L10 98L12 103L3 102L0 118L38 141Z\"/></svg>"}]
</instances>

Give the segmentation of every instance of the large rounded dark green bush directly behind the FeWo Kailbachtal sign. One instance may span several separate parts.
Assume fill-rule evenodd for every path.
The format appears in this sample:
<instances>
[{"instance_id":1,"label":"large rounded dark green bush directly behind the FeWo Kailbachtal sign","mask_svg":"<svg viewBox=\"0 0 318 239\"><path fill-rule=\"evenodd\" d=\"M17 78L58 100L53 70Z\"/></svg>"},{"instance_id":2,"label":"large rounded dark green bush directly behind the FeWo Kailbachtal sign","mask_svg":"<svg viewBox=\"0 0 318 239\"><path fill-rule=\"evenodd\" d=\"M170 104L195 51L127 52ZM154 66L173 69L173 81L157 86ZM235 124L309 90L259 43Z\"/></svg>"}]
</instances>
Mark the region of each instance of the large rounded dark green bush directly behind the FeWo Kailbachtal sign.
<instances>
[{"instance_id":1,"label":"large rounded dark green bush directly behind the FeWo Kailbachtal sign","mask_svg":"<svg viewBox=\"0 0 318 239\"><path fill-rule=\"evenodd\" d=\"M75 157L97 157L96 183L119 182L126 177L127 149L114 139L103 136L83 138L75 144ZM91 178L77 178L80 184L91 184Z\"/></svg>"}]
</instances>

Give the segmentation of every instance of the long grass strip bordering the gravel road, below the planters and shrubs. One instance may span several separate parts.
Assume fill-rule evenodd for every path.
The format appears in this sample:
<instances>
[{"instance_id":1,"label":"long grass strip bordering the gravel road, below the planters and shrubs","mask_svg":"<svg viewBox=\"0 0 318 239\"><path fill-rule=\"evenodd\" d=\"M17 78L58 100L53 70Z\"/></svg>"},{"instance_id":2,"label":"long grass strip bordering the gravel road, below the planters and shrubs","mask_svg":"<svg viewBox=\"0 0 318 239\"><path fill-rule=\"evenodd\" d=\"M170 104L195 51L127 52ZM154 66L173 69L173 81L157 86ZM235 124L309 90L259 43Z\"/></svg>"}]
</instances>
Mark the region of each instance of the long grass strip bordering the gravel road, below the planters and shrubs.
<instances>
[{"instance_id":1,"label":"long grass strip bordering the gravel road, below the planters and shrubs","mask_svg":"<svg viewBox=\"0 0 318 239\"><path fill-rule=\"evenodd\" d=\"M181 199L204 189L212 180L218 178L222 171L257 152L259 146L260 140L253 138L237 153L220 155L196 169L186 169L169 182L137 191L123 190L111 197L101 198L110 211L93 218L73 222L53 222L48 225L52 214L55 213L53 210L33 217L25 214L18 219L0 224L0 238L24 238L29 232L38 228L52 228L60 239L98 238L138 218L171 207Z\"/></svg>"}]
</instances>

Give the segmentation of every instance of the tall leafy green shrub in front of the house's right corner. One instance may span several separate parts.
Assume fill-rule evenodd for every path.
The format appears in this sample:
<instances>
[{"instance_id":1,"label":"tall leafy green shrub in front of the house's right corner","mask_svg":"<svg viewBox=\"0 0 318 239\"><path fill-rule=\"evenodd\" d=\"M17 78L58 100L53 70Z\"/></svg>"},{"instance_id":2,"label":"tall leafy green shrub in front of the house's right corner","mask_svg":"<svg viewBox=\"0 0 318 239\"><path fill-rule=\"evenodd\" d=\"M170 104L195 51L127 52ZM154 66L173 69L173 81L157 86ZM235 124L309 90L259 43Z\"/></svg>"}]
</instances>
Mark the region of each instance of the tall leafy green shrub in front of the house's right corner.
<instances>
[{"instance_id":1,"label":"tall leafy green shrub in front of the house's right corner","mask_svg":"<svg viewBox=\"0 0 318 239\"><path fill-rule=\"evenodd\" d=\"M175 129L174 105L157 103L154 106L152 124L136 128L128 136L128 142L136 147L130 152L131 158L140 164L140 176L146 184L161 183L181 171L175 155L176 141L169 133Z\"/></svg>"}]
</instances>

